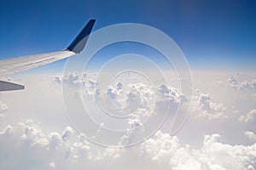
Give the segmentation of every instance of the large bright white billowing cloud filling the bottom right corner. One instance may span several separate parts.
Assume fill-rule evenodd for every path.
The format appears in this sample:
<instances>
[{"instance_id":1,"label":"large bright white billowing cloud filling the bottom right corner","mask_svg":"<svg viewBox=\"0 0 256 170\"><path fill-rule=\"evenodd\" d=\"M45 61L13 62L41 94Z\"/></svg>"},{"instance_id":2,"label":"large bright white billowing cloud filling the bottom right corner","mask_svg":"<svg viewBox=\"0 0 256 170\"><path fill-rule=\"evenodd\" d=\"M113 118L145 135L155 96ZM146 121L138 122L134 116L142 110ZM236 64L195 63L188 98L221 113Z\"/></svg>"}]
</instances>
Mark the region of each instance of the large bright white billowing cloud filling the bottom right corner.
<instances>
[{"instance_id":1,"label":"large bright white billowing cloud filling the bottom right corner","mask_svg":"<svg viewBox=\"0 0 256 170\"><path fill-rule=\"evenodd\" d=\"M180 144L177 137L159 131L142 144L141 151L160 169L254 169L256 166L256 144L222 144L218 133L206 135L201 149L194 150Z\"/></svg>"}]
</instances>

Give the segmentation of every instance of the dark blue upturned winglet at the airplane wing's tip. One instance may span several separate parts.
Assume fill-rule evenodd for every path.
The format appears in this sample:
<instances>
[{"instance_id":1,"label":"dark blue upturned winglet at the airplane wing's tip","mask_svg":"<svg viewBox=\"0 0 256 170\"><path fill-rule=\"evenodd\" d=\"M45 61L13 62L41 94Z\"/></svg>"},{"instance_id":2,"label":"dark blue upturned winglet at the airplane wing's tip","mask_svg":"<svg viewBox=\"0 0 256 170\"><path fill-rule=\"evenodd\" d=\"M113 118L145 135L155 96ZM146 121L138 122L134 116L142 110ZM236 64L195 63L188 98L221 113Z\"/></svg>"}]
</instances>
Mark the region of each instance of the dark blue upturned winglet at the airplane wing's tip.
<instances>
[{"instance_id":1,"label":"dark blue upturned winglet at the airplane wing's tip","mask_svg":"<svg viewBox=\"0 0 256 170\"><path fill-rule=\"evenodd\" d=\"M94 26L96 20L90 20L79 35L73 40L73 42L67 47L66 50L73 51L75 54L79 54L83 49L90 35L90 31Z\"/></svg>"}]
</instances>

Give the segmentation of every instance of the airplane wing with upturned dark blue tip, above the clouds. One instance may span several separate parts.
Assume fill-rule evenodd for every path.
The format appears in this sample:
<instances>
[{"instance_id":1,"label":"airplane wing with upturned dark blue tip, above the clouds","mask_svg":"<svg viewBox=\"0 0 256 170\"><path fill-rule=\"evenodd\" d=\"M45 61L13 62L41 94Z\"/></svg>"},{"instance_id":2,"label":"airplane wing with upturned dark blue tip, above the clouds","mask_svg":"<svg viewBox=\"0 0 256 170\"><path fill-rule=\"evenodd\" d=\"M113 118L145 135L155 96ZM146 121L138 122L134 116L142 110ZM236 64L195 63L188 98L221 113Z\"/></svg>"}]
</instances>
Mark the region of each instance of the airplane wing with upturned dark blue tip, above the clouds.
<instances>
[{"instance_id":1,"label":"airplane wing with upturned dark blue tip, above the clouds","mask_svg":"<svg viewBox=\"0 0 256 170\"><path fill-rule=\"evenodd\" d=\"M45 54L34 54L17 58L0 59L0 77L15 72L26 71L41 65L46 65L54 61L70 57L73 54L79 54L84 49L95 21L96 20L90 20L66 49ZM0 91L19 89L24 89L24 86L13 82L0 81Z\"/></svg>"}]
</instances>

